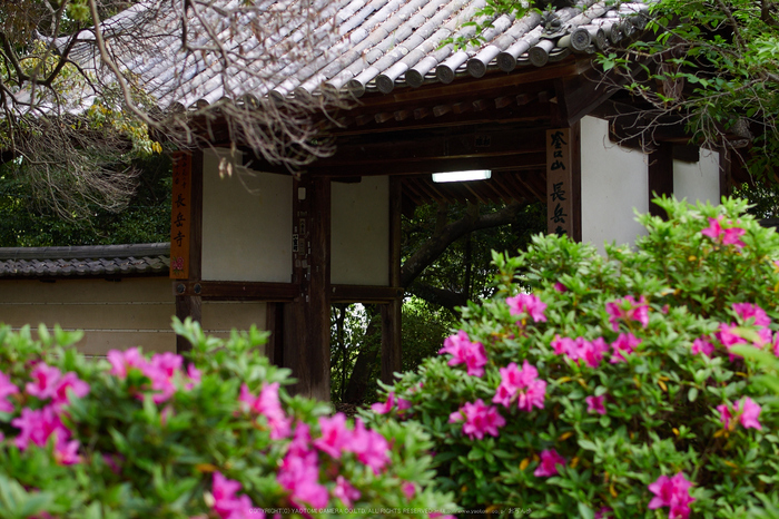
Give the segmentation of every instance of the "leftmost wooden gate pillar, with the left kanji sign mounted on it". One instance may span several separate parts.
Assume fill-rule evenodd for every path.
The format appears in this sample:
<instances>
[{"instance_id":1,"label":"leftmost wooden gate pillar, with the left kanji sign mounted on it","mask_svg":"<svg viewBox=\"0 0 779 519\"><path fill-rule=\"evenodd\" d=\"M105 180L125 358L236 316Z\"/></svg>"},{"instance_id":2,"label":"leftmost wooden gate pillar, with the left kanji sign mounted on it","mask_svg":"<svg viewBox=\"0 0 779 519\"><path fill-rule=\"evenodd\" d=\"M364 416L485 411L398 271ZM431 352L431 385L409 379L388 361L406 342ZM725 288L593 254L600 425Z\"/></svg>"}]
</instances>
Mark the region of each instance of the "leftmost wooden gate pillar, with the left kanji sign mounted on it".
<instances>
[{"instance_id":1,"label":"leftmost wooden gate pillar, with the left kanji sign mounted on it","mask_svg":"<svg viewBox=\"0 0 779 519\"><path fill-rule=\"evenodd\" d=\"M184 321L203 319L203 297L185 293L181 282L198 283L203 265L203 150L174 156L174 197L170 225L170 277L176 294L176 316ZM176 352L190 351L186 339L176 336Z\"/></svg>"}]
</instances>

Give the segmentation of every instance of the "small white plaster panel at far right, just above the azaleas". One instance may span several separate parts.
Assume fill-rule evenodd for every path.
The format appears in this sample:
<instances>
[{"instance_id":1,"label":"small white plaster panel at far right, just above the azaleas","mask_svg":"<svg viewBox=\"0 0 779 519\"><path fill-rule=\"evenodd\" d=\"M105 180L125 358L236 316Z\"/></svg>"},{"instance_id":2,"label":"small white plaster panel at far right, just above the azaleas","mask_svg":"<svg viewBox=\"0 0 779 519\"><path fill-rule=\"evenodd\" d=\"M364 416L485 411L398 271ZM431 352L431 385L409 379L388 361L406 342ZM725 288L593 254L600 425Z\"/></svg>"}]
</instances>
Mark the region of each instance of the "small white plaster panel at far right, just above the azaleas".
<instances>
[{"instance_id":1,"label":"small white plaster panel at far right, just above the azaleas","mask_svg":"<svg viewBox=\"0 0 779 519\"><path fill-rule=\"evenodd\" d=\"M673 194L677 199L687 198L711 205L720 203L720 155L710 149L700 150L697 163L673 161Z\"/></svg>"}]
</instances>

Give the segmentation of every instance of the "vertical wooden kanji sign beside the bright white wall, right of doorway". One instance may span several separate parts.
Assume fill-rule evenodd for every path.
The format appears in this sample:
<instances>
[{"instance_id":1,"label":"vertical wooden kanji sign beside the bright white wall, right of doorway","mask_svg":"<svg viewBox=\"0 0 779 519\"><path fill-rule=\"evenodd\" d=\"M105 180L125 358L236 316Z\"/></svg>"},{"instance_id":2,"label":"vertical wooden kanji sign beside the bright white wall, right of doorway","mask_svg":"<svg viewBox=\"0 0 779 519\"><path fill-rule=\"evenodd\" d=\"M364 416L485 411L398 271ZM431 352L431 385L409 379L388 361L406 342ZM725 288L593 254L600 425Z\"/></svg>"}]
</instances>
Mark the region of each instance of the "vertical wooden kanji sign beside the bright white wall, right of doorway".
<instances>
[{"instance_id":1,"label":"vertical wooden kanji sign beside the bright white wall, right of doorway","mask_svg":"<svg viewBox=\"0 0 779 519\"><path fill-rule=\"evenodd\" d=\"M573 160L571 130L546 131L546 228L550 234L573 236Z\"/></svg>"}]
</instances>

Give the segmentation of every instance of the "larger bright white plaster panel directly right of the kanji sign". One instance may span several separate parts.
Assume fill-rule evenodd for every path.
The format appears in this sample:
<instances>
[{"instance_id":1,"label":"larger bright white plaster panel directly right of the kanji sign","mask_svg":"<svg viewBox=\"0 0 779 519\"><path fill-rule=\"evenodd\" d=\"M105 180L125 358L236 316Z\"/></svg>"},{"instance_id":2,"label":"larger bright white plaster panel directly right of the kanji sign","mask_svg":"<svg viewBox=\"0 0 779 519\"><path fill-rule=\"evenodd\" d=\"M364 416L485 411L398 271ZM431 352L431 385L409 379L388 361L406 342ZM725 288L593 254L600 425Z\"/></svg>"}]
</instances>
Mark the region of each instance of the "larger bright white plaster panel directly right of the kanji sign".
<instances>
[{"instance_id":1,"label":"larger bright white plaster panel directly right of the kanji sign","mask_svg":"<svg viewBox=\"0 0 779 519\"><path fill-rule=\"evenodd\" d=\"M644 154L609 140L605 120L584 117L582 139L582 241L603 253L605 242L633 244L645 229L634 209L649 212L649 173Z\"/></svg>"}]
</instances>

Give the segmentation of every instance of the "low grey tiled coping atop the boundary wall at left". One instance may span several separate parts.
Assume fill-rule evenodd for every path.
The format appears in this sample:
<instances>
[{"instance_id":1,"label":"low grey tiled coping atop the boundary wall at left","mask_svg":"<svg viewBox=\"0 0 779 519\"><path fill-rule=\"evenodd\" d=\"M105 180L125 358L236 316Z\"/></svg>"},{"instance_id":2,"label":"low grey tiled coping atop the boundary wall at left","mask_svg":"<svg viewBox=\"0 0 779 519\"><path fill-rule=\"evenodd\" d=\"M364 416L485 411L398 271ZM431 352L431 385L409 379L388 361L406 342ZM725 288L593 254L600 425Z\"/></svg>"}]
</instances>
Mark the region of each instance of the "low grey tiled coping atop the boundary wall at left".
<instances>
[{"instance_id":1,"label":"low grey tiled coping atop the boundary wall at left","mask_svg":"<svg viewBox=\"0 0 779 519\"><path fill-rule=\"evenodd\" d=\"M0 278L167 275L170 244L0 247Z\"/></svg>"}]
</instances>

